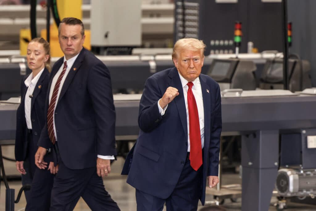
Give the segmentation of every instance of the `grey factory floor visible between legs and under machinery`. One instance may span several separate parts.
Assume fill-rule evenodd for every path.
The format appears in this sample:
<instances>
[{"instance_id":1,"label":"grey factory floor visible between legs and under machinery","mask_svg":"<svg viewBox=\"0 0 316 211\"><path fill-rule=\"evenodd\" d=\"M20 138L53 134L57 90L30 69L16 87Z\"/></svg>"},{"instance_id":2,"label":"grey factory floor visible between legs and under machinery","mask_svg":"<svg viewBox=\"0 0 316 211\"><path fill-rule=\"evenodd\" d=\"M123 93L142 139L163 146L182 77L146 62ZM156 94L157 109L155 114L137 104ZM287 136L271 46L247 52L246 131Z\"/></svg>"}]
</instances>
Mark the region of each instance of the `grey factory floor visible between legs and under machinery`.
<instances>
[{"instance_id":1,"label":"grey factory floor visible between legs and under machinery","mask_svg":"<svg viewBox=\"0 0 316 211\"><path fill-rule=\"evenodd\" d=\"M14 157L14 146L2 146L3 156L7 156L10 158ZM112 172L110 176L106 177L104 181L104 185L106 190L111 194L112 198L118 203L120 209L122 211L136 211L136 200L135 200L135 189L132 188L130 185L126 183L126 177L120 175L120 171L124 164L124 159L119 157L117 161L115 161L111 168ZM18 175L18 172L15 169L15 163L4 160L4 166L6 175ZM239 178L238 174L234 173L225 173L222 175L222 184L232 184L232 183L241 183L241 179ZM9 186L11 189L15 189L15 197L18 193L18 190L21 188L21 181L9 181ZM1 182L0 184L0 211L5 210L5 186L4 183ZM211 202L213 201L212 195L206 195L206 201ZM275 197L271 198L269 211L277 210L276 207L273 205L277 202ZM251 203L251 202L249 202ZM22 195L21 200L19 203L15 204L15 210L22 211L25 208L25 197ZM201 204L198 207L200 211L208 211L207 206L211 206L211 203L206 206L202 206ZM229 199L226 199L222 208L225 208L227 211L239 211L241 210L241 199L237 199L236 202L231 202ZM90 210L87 204L82 200L76 205L75 211L88 211ZM166 209L164 209L165 211ZM294 211L294 210L301 210L301 211L312 211L316 210L316 205L308 205L308 204L301 204L301 203L287 203L286 211ZM249 210L254 211L254 210Z\"/></svg>"}]
</instances>

